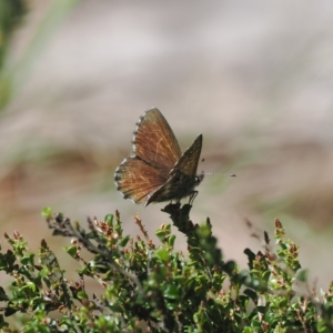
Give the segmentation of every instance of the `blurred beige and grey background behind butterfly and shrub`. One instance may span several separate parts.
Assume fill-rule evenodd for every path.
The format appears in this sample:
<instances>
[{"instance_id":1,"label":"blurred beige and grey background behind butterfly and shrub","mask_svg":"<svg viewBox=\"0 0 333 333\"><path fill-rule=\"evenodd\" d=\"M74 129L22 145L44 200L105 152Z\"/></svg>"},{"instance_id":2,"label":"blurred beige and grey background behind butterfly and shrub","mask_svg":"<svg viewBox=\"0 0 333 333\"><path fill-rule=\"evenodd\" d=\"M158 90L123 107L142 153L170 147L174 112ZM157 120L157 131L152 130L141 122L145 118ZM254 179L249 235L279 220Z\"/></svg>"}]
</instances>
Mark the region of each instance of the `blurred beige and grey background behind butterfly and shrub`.
<instances>
[{"instance_id":1,"label":"blurred beige and grey background behind butterfly and shrub","mask_svg":"<svg viewBox=\"0 0 333 333\"><path fill-rule=\"evenodd\" d=\"M0 0L0 233L18 230L33 251L46 239L71 269L44 206L82 225L118 209L132 235L139 214L153 236L165 204L123 200L113 172L158 107L182 150L203 134L199 172L238 174L206 175L191 215L210 216L225 259L246 268L243 250L262 250L244 219L273 239L279 218L326 289L332 14L331 1Z\"/></svg>"}]
</instances>

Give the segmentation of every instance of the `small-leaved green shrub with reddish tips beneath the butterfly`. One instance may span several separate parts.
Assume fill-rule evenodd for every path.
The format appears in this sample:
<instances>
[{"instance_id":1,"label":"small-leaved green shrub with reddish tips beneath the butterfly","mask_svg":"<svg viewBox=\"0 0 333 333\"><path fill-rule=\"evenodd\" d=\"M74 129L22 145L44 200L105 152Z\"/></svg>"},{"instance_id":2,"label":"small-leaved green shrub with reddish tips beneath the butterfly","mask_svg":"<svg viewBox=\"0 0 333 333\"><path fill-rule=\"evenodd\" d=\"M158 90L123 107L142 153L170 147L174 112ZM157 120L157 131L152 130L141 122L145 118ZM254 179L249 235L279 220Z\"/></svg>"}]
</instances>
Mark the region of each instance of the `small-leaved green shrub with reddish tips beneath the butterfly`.
<instances>
[{"instance_id":1,"label":"small-leaved green shrub with reddish tips beneath the butterfly","mask_svg":"<svg viewBox=\"0 0 333 333\"><path fill-rule=\"evenodd\" d=\"M212 225L194 224L191 205L169 204L168 213L188 242L188 254L174 250L171 225L162 225L154 244L135 216L141 236L124 235L119 212L104 221L88 219L88 230L63 214L42 214L54 235L71 238L67 253L81 264L77 281L65 275L56 254L41 241L38 259L16 232L6 239L12 250L0 254L10 275L0 289L3 332L332 332L333 284L327 292L295 292L307 286L299 246L275 220L276 250L246 249L249 270L224 262ZM84 259L85 249L92 259ZM100 291L89 294L85 281ZM310 290L304 287L304 290ZM20 329L8 316L18 316ZM24 314L22 316L22 314ZM294 330L294 331L290 331Z\"/></svg>"}]
</instances>

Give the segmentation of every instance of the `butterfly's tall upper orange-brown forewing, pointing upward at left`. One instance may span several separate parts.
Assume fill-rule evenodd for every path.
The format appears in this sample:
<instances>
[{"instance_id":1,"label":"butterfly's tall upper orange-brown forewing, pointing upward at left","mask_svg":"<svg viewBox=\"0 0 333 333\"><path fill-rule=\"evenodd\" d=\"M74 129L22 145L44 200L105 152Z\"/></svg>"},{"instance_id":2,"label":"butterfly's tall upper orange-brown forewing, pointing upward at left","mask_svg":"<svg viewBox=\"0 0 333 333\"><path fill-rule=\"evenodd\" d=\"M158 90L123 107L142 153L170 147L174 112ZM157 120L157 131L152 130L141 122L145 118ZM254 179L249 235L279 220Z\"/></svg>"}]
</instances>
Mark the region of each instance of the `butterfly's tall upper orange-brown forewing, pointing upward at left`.
<instances>
[{"instance_id":1,"label":"butterfly's tall upper orange-brown forewing, pointing upward at left","mask_svg":"<svg viewBox=\"0 0 333 333\"><path fill-rule=\"evenodd\" d=\"M139 123L134 135L135 154L169 174L181 157L179 143L158 109L145 112Z\"/></svg>"}]
</instances>

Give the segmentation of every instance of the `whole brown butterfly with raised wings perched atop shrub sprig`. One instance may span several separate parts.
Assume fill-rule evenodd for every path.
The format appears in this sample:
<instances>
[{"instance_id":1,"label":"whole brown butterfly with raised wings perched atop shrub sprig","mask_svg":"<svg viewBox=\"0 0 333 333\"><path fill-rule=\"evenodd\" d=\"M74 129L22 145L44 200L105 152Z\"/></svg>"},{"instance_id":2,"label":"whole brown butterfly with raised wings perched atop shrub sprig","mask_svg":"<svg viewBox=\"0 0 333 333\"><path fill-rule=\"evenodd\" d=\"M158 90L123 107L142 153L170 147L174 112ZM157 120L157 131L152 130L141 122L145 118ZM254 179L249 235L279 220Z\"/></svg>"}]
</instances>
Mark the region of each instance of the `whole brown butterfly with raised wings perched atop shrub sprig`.
<instances>
[{"instance_id":1,"label":"whole brown butterfly with raised wings perched atop shrub sprig","mask_svg":"<svg viewBox=\"0 0 333 333\"><path fill-rule=\"evenodd\" d=\"M180 201L190 195L203 179L196 175L202 147L202 134L181 154L179 143L158 109L147 111L137 123L133 155L117 168L114 181L124 199L134 203Z\"/></svg>"}]
</instances>

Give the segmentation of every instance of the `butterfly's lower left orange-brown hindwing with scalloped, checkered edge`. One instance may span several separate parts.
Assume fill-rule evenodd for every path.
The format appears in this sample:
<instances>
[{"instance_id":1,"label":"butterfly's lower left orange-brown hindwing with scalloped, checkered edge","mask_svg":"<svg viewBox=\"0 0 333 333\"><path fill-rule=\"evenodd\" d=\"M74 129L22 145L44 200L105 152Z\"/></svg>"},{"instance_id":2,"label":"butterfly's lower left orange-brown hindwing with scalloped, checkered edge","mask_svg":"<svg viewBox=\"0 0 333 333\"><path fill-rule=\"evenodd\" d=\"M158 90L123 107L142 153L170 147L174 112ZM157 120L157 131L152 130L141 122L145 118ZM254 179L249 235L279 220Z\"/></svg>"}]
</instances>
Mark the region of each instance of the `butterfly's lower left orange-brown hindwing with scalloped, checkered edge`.
<instances>
[{"instance_id":1,"label":"butterfly's lower left orange-brown hindwing with scalloped, checkered edge","mask_svg":"<svg viewBox=\"0 0 333 333\"><path fill-rule=\"evenodd\" d=\"M125 159L114 173L117 189L123 193L124 199L135 203L145 202L149 194L164 184L168 178L137 157Z\"/></svg>"}]
</instances>

